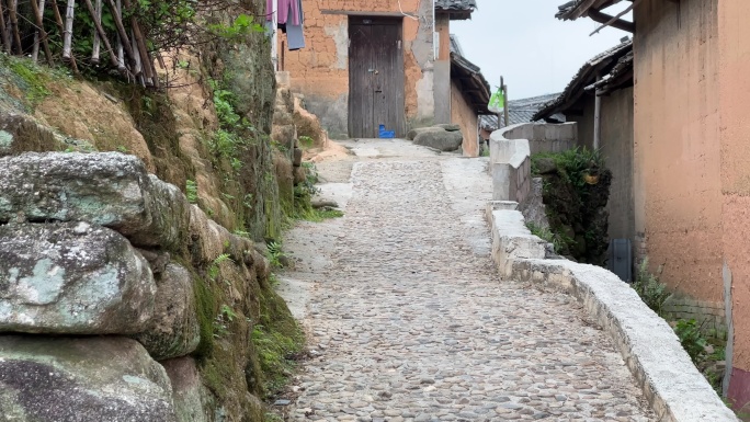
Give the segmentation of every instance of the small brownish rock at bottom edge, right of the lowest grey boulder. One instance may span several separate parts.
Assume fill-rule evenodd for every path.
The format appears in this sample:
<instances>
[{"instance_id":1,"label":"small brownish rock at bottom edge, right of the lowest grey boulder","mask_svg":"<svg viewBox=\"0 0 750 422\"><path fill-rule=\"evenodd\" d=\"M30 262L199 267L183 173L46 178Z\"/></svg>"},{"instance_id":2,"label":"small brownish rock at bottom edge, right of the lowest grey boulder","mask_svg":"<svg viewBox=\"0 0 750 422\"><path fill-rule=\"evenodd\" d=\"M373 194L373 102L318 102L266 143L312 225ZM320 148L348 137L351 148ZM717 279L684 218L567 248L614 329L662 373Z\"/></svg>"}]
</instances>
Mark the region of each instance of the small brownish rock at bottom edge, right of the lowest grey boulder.
<instances>
[{"instance_id":1,"label":"small brownish rock at bottom edge, right of the lowest grey boulder","mask_svg":"<svg viewBox=\"0 0 750 422\"><path fill-rule=\"evenodd\" d=\"M211 391L203 385L195 360L180 357L161 362L172 383L172 400L178 422L212 421L207 409L213 401Z\"/></svg>"}]
</instances>

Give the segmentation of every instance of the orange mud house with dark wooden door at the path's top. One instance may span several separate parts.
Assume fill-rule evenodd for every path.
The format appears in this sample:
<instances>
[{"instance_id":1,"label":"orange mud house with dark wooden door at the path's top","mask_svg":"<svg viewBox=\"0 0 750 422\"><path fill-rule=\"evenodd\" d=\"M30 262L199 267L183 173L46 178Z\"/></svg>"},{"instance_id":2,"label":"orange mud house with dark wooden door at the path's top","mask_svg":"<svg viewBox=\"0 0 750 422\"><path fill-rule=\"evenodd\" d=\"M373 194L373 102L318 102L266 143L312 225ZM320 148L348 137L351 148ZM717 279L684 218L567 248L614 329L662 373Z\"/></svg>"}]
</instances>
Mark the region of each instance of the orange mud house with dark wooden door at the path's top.
<instances>
[{"instance_id":1,"label":"orange mud house with dark wooden door at the path's top","mask_svg":"<svg viewBox=\"0 0 750 422\"><path fill-rule=\"evenodd\" d=\"M279 70L333 138L376 137L379 125L451 123L450 22L475 0L304 0L307 46ZM284 37L280 37L280 44Z\"/></svg>"}]
</instances>

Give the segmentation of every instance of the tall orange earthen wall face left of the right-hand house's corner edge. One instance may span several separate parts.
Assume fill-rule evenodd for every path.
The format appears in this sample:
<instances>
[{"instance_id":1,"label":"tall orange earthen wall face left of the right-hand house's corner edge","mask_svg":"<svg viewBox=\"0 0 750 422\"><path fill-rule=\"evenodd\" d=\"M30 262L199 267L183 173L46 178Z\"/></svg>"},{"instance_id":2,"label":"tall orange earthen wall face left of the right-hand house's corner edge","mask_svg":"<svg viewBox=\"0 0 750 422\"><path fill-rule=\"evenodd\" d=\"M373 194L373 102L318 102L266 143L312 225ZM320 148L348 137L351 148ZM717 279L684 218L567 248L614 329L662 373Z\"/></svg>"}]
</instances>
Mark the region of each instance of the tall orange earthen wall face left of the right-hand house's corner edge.
<instances>
[{"instance_id":1,"label":"tall orange earthen wall face left of the right-hand house's corner edge","mask_svg":"<svg viewBox=\"0 0 750 422\"><path fill-rule=\"evenodd\" d=\"M742 1L742 0L739 0ZM652 269L697 299L723 301L718 0L636 8L636 231Z\"/></svg>"}]
</instances>

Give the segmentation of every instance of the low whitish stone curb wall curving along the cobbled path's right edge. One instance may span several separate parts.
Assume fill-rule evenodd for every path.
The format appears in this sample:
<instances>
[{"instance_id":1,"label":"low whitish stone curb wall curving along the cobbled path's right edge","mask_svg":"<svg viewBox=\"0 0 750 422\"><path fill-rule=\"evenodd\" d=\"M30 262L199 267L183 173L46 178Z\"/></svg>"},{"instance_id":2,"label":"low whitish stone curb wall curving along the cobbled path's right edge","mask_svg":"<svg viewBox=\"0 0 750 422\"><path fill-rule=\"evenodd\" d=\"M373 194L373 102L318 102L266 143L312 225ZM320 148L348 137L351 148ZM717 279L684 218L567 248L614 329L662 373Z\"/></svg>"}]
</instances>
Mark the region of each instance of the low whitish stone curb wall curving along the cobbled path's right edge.
<instances>
[{"instance_id":1,"label":"low whitish stone curb wall curving along the cobbled path's right edge","mask_svg":"<svg viewBox=\"0 0 750 422\"><path fill-rule=\"evenodd\" d=\"M567 260L544 260L512 204L488 206L492 259L502 280L562 290L613 339L651 408L666 422L738 421L693 365L667 321L615 274ZM533 258L532 258L533 256Z\"/></svg>"}]
</instances>

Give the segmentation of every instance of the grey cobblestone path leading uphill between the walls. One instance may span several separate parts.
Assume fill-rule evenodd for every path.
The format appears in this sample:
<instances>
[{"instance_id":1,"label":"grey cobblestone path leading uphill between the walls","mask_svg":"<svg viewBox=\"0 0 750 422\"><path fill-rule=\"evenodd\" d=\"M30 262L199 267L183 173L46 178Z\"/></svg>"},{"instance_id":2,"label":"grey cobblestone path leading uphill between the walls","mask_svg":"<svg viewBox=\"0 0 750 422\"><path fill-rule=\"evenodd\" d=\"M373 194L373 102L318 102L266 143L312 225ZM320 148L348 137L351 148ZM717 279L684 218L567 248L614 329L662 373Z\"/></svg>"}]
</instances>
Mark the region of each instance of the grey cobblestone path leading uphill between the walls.
<instances>
[{"instance_id":1,"label":"grey cobblestone path leading uphill between the walls","mask_svg":"<svg viewBox=\"0 0 750 422\"><path fill-rule=\"evenodd\" d=\"M362 162L353 182L289 420L655 420L575 301L475 255L440 160Z\"/></svg>"}]
</instances>

